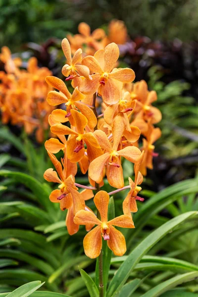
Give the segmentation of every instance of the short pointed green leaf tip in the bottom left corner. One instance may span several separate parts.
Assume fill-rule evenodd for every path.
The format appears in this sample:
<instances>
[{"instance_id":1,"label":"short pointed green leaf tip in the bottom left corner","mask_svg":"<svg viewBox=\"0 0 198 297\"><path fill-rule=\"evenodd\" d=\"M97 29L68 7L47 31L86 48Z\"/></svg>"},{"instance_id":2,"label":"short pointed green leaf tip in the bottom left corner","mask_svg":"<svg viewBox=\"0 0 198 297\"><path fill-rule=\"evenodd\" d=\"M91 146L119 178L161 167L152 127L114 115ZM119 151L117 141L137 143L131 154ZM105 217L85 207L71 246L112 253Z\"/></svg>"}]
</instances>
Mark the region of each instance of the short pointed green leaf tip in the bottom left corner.
<instances>
[{"instance_id":1,"label":"short pointed green leaf tip in the bottom left corner","mask_svg":"<svg viewBox=\"0 0 198 297\"><path fill-rule=\"evenodd\" d=\"M34 291L39 289L41 286L43 286L44 283L41 283L40 281L31 282L28 284L25 284L16 290L14 290L12 293L8 294L6 297L27 297L30 296Z\"/></svg>"}]
</instances>

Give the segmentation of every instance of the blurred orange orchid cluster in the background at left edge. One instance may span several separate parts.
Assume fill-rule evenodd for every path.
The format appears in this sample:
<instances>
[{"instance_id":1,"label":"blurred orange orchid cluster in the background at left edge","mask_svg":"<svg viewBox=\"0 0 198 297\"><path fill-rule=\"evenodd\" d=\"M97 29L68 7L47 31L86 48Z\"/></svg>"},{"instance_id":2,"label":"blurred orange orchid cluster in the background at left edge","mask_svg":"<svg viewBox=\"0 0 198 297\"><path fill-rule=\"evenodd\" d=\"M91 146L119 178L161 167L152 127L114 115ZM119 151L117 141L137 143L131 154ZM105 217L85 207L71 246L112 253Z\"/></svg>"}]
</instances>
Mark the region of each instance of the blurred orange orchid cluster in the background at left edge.
<instances>
[{"instance_id":1,"label":"blurred orange orchid cluster in the background at left edge","mask_svg":"<svg viewBox=\"0 0 198 297\"><path fill-rule=\"evenodd\" d=\"M49 114L54 109L46 102L52 88L45 78L51 75L51 71L46 67L39 68L35 57L29 59L27 70L21 70L21 59L12 59L7 47L1 49L0 61L5 70L0 71L2 123L23 126L27 134L36 129L36 139L42 142L45 131L49 129Z\"/></svg>"}]
</instances>

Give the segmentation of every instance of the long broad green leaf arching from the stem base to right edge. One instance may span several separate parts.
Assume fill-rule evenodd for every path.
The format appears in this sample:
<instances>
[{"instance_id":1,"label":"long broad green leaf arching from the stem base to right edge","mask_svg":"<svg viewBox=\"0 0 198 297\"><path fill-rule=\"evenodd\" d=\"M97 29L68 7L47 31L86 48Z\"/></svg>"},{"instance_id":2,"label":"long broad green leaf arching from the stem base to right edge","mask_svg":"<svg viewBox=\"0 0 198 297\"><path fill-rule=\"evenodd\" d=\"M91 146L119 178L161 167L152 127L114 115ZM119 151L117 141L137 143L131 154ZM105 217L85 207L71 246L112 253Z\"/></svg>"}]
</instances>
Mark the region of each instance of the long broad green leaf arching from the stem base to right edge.
<instances>
[{"instance_id":1,"label":"long broad green leaf arching from the stem base to right edge","mask_svg":"<svg viewBox=\"0 0 198 297\"><path fill-rule=\"evenodd\" d=\"M141 258L153 247L161 238L163 238L173 228L184 222L186 219L197 214L196 211L181 214L148 235L137 247L132 250L128 258L122 263L117 273L112 278L107 291L107 297L113 297L124 285L134 267L139 263Z\"/></svg>"}]
</instances>

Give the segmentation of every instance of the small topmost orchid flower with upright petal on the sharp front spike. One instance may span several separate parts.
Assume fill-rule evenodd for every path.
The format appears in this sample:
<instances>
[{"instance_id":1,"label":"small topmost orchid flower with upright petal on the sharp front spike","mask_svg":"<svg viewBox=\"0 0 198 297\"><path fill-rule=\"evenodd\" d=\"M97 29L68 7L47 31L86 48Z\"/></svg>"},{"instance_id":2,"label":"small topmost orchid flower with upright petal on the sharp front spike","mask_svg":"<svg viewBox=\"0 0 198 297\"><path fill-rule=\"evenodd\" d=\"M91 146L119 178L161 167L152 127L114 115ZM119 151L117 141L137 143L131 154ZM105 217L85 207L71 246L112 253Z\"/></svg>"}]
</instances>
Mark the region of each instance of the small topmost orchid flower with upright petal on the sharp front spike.
<instances>
[{"instance_id":1,"label":"small topmost orchid flower with upright petal on the sharp front spike","mask_svg":"<svg viewBox=\"0 0 198 297\"><path fill-rule=\"evenodd\" d=\"M68 40L64 38L62 40L62 50L67 59L67 64L62 67L62 74L68 79L74 79L76 76L84 76L87 79L92 79L90 76L90 70L85 65L79 65L82 60L82 49L78 49L73 58L71 57L71 48Z\"/></svg>"}]
</instances>

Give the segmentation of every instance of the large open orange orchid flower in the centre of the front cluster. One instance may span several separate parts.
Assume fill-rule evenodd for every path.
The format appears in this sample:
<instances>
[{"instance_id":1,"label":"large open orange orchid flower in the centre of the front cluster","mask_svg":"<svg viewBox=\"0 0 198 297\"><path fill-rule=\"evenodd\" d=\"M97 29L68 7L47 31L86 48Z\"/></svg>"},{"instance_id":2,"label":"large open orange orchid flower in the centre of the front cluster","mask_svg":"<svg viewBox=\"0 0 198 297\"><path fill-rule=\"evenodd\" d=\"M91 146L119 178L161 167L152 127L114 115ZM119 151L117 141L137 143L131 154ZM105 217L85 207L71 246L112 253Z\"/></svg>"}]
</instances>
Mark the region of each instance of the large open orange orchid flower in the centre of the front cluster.
<instances>
[{"instance_id":1,"label":"large open orange orchid flower in the centre of the front cluster","mask_svg":"<svg viewBox=\"0 0 198 297\"><path fill-rule=\"evenodd\" d=\"M96 130L94 132L100 147L104 149L104 151L107 151L98 158L94 159L90 164L89 176L95 182L100 183L102 181L103 169L105 164L107 164L106 177L109 184L117 189L124 187L123 170L120 157L123 156L130 162L135 163L141 154L140 149L136 147L126 147L118 150L124 130L125 128L122 119L120 117L116 117L112 127L113 145L111 145L103 131Z\"/></svg>"}]
</instances>

